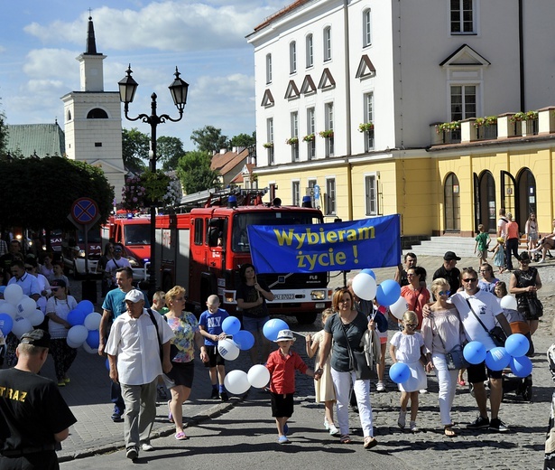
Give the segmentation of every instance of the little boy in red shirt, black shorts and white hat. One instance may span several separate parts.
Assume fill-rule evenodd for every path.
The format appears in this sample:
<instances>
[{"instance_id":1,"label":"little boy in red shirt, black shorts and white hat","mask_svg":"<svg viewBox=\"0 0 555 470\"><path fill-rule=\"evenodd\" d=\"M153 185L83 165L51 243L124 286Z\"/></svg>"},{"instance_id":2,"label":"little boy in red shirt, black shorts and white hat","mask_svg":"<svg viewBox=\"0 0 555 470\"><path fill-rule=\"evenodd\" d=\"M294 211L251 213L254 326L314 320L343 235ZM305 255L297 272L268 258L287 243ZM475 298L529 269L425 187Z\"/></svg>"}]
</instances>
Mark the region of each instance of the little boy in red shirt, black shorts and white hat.
<instances>
[{"instance_id":1,"label":"little boy in red shirt, black shorts and white hat","mask_svg":"<svg viewBox=\"0 0 555 470\"><path fill-rule=\"evenodd\" d=\"M278 443L289 444L287 438L287 420L293 414L293 393L295 392L295 371L306 373L318 381L322 370L312 371L302 361L301 356L291 351L295 342L291 330L282 330L278 333L274 343L280 347L270 353L266 368L270 371L270 395L272 400L272 416L278 430Z\"/></svg>"}]
</instances>

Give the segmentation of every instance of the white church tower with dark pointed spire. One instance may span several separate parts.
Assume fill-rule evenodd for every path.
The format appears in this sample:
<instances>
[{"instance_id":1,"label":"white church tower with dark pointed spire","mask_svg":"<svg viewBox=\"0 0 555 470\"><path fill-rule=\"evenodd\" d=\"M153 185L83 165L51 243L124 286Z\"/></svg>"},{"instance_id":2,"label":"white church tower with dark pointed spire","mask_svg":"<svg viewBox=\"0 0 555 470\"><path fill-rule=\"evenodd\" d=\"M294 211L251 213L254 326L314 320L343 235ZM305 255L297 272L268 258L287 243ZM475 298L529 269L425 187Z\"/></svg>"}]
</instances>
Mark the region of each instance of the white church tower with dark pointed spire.
<instances>
[{"instance_id":1,"label":"white church tower with dark pointed spire","mask_svg":"<svg viewBox=\"0 0 555 470\"><path fill-rule=\"evenodd\" d=\"M61 97L64 103L66 155L102 168L114 186L116 202L125 184L122 159L122 115L118 91L104 90L103 61L97 52L95 29L88 17L87 47L80 54L80 91Z\"/></svg>"}]
</instances>

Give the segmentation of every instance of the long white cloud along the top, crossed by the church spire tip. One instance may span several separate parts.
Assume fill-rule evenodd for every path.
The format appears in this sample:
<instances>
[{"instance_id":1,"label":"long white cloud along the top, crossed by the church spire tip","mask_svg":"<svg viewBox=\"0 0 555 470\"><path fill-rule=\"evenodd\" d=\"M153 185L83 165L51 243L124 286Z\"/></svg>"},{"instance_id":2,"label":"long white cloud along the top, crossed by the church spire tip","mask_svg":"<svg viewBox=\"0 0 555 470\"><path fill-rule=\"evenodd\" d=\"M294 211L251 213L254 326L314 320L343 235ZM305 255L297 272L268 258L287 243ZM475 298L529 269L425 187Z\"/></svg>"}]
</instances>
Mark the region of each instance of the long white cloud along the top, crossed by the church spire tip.
<instances>
[{"instance_id":1,"label":"long white cloud along the top, crossed by the church spire tip","mask_svg":"<svg viewBox=\"0 0 555 470\"><path fill-rule=\"evenodd\" d=\"M229 5L222 1L210 4L164 1L145 5L136 11L103 6L92 14L97 49L100 52L143 48L195 52L245 47L245 35L276 11L277 2L263 6L260 2ZM42 42L84 45L84 20L81 16L72 23L32 23L24 30Z\"/></svg>"}]
</instances>

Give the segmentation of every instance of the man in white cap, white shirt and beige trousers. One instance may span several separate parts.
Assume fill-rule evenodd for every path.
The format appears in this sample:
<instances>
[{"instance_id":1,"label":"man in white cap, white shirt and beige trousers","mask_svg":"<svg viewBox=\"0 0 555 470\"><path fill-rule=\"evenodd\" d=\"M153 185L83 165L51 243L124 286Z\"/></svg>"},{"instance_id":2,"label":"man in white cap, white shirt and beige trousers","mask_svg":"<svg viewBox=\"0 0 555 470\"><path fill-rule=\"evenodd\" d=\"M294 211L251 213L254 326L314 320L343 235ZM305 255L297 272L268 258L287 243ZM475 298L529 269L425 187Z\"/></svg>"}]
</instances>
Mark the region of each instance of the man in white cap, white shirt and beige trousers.
<instances>
[{"instance_id":1,"label":"man in white cap, white shirt and beige trousers","mask_svg":"<svg viewBox=\"0 0 555 470\"><path fill-rule=\"evenodd\" d=\"M125 448L127 458L153 450L150 434L156 418L158 376L171 371L170 343L174 334L162 315L144 308L143 292L125 294L126 315L112 325L106 343L110 379L119 383L125 401ZM162 357L161 357L162 356Z\"/></svg>"}]
</instances>

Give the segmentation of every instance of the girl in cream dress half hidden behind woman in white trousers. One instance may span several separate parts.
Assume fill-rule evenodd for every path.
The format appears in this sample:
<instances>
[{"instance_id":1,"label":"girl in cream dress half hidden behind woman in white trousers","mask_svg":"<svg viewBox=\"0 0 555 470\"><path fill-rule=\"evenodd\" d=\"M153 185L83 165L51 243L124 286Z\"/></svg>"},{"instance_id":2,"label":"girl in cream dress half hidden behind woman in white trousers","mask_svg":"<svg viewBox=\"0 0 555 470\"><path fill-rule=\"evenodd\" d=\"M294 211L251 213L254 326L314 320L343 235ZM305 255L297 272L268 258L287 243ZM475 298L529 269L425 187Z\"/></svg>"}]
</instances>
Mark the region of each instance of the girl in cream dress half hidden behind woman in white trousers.
<instances>
[{"instance_id":1,"label":"girl in cream dress half hidden behind woman in white trousers","mask_svg":"<svg viewBox=\"0 0 555 470\"><path fill-rule=\"evenodd\" d=\"M335 315L333 308L327 308L322 312L322 325L326 324L329 316ZM321 343L324 341L324 330L320 330L315 333L314 336L307 334L306 337L306 348L307 355L312 359L314 355L318 352ZM316 369L318 370L319 364L316 364ZM336 403L336 390L333 388L333 381L331 379L331 370L328 361L322 365L322 376L319 381L314 381L314 391L316 393L316 402L324 403L324 428L328 429L330 436L337 436L339 434L339 429L336 427L333 420L333 407Z\"/></svg>"}]
</instances>

